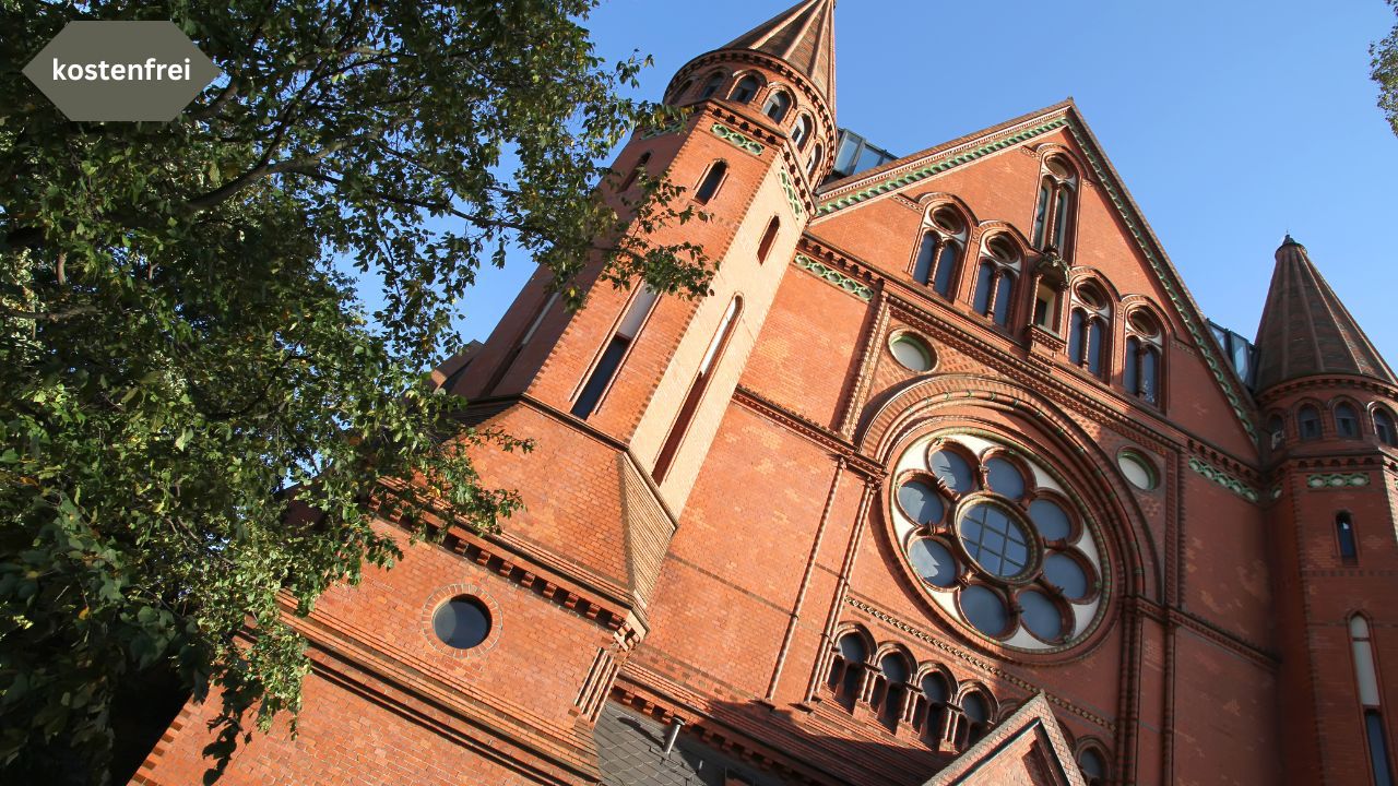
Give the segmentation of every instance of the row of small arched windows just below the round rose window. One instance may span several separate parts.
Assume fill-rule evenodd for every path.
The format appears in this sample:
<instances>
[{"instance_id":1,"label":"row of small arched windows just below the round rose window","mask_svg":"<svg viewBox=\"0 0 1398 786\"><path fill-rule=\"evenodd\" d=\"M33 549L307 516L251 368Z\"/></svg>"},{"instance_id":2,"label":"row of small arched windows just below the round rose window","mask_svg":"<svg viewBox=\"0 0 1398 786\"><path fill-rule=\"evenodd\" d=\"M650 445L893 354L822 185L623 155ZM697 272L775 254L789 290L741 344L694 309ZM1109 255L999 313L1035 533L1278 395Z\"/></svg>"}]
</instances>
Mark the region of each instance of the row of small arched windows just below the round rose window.
<instances>
[{"instance_id":1,"label":"row of small arched windows just below the round rose window","mask_svg":"<svg viewBox=\"0 0 1398 786\"><path fill-rule=\"evenodd\" d=\"M1016 706L997 701L980 683L958 683L942 664L917 663L902 645L875 645L857 624L835 641L825 691L847 712L867 708L889 733L910 729L924 745L944 752L976 744ZM1088 783L1106 783L1106 748L1086 738L1076 751Z\"/></svg>"}]
</instances>

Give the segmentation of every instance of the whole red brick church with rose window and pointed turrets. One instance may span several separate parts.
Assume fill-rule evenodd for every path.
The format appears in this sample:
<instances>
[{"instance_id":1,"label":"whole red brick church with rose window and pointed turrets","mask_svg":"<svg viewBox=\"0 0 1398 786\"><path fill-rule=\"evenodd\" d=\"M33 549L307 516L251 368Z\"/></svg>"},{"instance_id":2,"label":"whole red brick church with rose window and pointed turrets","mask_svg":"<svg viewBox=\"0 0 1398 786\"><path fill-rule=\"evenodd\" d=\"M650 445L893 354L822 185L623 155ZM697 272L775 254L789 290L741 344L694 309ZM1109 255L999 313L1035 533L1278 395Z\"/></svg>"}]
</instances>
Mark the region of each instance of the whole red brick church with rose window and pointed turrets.
<instances>
[{"instance_id":1,"label":"whole red brick church with rose window and pointed turrets","mask_svg":"<svg viewBox=\"0 0 1398 786\"><path fill-rule=\"evenodd\" d=\"M1398 379L1304 246L1215 326L1071 102L893 158L833 22L675 74L615 190L689 189L712 295L537 276L445 364L524 512L298 620L222 783L1394 783Z\"/></svg>"}]
</instances>

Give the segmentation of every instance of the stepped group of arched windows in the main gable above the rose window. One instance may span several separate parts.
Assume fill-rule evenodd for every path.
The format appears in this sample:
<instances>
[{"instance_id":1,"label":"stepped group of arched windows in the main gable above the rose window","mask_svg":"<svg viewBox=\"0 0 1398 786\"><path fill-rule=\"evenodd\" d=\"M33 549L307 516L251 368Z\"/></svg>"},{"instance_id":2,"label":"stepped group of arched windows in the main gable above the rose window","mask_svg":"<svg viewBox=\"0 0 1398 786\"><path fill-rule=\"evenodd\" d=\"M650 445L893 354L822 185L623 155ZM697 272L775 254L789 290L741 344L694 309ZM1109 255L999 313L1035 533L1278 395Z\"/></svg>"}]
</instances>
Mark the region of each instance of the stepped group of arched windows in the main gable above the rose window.
<instances>
[{"instance_id":1,"label":"stepped group of arched windows in the main gable above the rose window","mask_svg":"<svg viewBox=\"0 0 1398 786\"><path fill-rule=\"evenodd\" d=\"M1109 295L1096 274L1071 274L1078 168L1062 152L1044 157L1042 166L1032 242L1000 221L976 225L951 199L932 200L909 276L937 298L965 298L973 313L1005 331L1032 324L1067 338L1071 365L1163 408L1169 341L1162 312L1142 296ZM973 281L963 285L966 276Z\"/></svg>"}]
</instances>

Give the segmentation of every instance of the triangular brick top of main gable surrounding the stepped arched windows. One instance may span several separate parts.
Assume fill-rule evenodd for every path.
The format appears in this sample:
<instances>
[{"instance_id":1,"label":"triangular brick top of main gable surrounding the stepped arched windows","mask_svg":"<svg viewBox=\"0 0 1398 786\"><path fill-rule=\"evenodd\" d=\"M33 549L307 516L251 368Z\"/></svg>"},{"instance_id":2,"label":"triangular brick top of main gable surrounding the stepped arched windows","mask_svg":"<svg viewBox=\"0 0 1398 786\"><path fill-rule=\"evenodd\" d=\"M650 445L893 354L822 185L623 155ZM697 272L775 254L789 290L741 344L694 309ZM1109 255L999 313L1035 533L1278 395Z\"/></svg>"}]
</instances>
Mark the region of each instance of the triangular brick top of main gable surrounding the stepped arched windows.
<instances>
[{"instance_id":1,"label":"triangular brick top of main gable surrounding the stepped arched windows","mask_svg":"<svg viewBox=\"0 0 1398 786\"><path fill-rule=\"evenodd\" d=\"M1170 385L1195 403L1167 407L1170 418L1239 456L1253 456L1258 432L1251 396L1069 102L836 182L821 194L808 232L891 278L906 278L930 204L959 201L973 224L995 221L1023 239L1032 231L1040 159L1050 150L1082 169L1072 274L1096 276L1117 302L1151 303L1165 317L1174 347L1184 350L1170 352ZM963 262L963 269L972 266Z\"/></svg>"}]
</instances>

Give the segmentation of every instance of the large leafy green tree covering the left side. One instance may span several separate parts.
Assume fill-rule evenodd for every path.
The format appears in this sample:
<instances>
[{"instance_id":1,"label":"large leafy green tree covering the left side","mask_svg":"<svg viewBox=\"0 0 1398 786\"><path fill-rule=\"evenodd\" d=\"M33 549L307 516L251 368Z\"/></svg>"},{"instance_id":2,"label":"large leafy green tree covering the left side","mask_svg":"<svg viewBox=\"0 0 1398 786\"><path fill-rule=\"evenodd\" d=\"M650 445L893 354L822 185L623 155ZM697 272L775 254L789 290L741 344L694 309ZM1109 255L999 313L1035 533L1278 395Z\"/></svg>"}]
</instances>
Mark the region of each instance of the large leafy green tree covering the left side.
<instances>
[{"instance_id":1,"label":"large leafy green tree covering the left side","mask_svg":"<svg viewBox=\"0 0 1398 786\"><path fill-rule=\"evenodd\" d=\"M398 557L376 509L519 506L461 446L528 443L463 432L424 373L507 246L573 308L594 280L706 291L696 246L596 199L667 119L621 97L643 63L594 53L596 3L0 0L0 762L101 779L113 689L157 667L222 691L226 757L301 702L278 594L303 614ZM67 122L18 70L80 18L171 18L226 78L172 123ZM647 182L637 222L689 220L677 193Z\"/></svg>"}]
</instances>

